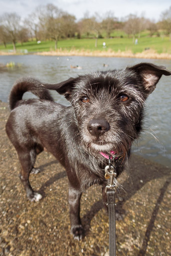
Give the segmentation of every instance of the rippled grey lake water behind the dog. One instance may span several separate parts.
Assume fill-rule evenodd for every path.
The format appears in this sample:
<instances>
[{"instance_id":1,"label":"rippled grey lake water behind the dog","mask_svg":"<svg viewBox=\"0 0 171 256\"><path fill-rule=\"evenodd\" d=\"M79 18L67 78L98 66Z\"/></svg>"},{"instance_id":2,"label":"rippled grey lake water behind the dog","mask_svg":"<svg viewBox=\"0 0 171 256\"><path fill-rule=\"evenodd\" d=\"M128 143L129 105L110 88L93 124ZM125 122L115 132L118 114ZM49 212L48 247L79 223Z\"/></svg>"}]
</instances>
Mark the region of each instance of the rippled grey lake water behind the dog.
<instances>
[{"instance_id":1,"label":"rippled grey lake water behind the dog","mask_svg":"<svg viewBox=\"0 0 171 256\"><path fill-rule=\"evenodd\" d=\"M152 62L164 65L171 70L171 60L108 58L83 56L39 56L17 55L0 56L0 63L14 61L13 68L0 68L0 99L7 102L14 81L24 75L35 77L42 82L56 83L95 70L124 68L139 62ZM104 67L103 64L107 64ZM82 69L70 66L81 66ZM144 131L134 143L133 152L150 160L171 167L171 77L162 76L156 89L149 95L146 102L146 118ZM27 95L26 97L31 96ZM68 104L68 101L57 92L53 92L57 102Z\"/></svg>"}]
</instances>

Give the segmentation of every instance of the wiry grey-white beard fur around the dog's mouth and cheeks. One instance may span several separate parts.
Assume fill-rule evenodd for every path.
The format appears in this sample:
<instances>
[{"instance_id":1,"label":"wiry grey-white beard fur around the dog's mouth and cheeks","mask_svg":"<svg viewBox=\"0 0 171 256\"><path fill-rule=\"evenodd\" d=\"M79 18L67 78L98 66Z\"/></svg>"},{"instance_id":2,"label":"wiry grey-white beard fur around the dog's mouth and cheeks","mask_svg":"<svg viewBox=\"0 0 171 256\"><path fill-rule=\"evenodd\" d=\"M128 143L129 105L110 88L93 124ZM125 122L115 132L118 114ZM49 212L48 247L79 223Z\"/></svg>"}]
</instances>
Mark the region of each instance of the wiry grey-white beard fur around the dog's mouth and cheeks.
<instances>
[{"instance_id":1,"label":"wiry grey-white beard fur around the dog's mouth and cheeks","mask_svg":"<svg viewBox=\"0 0 171 256\"><path fill-rule=\"evenodd\" d=\"M87 123L86 120L84 120L84 123ZM138 136L134 125L128 121L125 121L126 125L123 125L123 123L117 125L116 122L113 126L110 126L110 130L99 135L99 137L91 135L84 123L80 124L79 132L82 145L90 154L100 158L103 157L101 152L110 155L111 151L114 151L122 159L127 158L132 141ZM109 121L109 123L112 123L112 121Z\"/></svg>"}]
</instances>

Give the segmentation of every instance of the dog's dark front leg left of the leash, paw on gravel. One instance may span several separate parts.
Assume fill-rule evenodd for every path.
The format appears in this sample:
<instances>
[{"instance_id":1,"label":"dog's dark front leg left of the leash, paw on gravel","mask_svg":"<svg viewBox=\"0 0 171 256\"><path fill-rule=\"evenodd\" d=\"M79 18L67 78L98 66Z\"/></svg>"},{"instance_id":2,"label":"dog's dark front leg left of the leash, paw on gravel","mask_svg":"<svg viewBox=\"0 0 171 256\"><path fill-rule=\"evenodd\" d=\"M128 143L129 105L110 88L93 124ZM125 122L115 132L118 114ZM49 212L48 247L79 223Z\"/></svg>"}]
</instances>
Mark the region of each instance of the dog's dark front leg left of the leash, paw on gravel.
<instances>
[{"instance_id":1,"label":"dog's dark front leg left of the leash, paw on gravel","mask_svg":"<svg viewBox=\"0 0 171 256\"><path fill-rule=\"evenodd\" d=\"M80 219L80 199L82 191L80 187L73 187L69 185L69 207L70 207L70 221L71 221L71 232L74 239L81 240L83 237L83 227Z\"/></svg>"}]
</instances>

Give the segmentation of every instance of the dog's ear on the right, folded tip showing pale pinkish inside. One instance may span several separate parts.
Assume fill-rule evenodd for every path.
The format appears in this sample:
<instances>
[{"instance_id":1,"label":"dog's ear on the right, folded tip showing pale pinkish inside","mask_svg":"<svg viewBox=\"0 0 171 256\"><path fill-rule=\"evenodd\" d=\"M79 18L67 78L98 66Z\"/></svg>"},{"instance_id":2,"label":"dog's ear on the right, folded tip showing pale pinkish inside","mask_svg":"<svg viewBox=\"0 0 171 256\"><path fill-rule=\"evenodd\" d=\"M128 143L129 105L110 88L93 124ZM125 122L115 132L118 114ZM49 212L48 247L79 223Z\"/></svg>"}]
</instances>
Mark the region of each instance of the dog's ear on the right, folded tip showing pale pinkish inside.
<instances>
[{"instance_id":1,"label":"dog's ear on the right, folded tip showing pale pinkish inside","mask_svg":"<svg viewBox=\"0 0 171 256\"><path fill-rule=\"evenodd\" d=\"M136 64L128 69L132 69L141 76L143 86L148 94L155 89L162 74L171 75L171 72L164 66L157 66L146 62Z\"/></svg>"}]
</instances>

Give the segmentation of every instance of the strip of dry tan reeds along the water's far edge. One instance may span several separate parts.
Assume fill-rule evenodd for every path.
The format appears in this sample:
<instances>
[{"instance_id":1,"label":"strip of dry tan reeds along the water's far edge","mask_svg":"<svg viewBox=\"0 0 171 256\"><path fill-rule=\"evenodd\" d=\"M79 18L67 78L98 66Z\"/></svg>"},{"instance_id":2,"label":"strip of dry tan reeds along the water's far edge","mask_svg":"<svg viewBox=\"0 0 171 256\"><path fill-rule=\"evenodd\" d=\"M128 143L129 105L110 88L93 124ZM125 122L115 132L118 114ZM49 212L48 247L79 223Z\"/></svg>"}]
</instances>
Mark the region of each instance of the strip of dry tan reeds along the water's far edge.
<instances>
[{"instance_id":1,"label":"strip of dry tan reeds along the water's far edge","mask_svg":"<svg viewBox=\"0 0 171 256\"><path fill-rule=\"evenodd\" d=\"M16 53L22 54L22 53ZM43 52L34 52L31 54L36 55L51 55L51 56L94 56L94 57L128 57L128 58L151 58L151 59L171 59L171 54L168 53L157 53L152 49L147 49L142 52L132 53L132 51L112 51L109 50L61 50L57 49L56 51L43 51ZM0 55L15 55L13 52L4 52L0 51Z\"/></svg>"}]
</instances>

